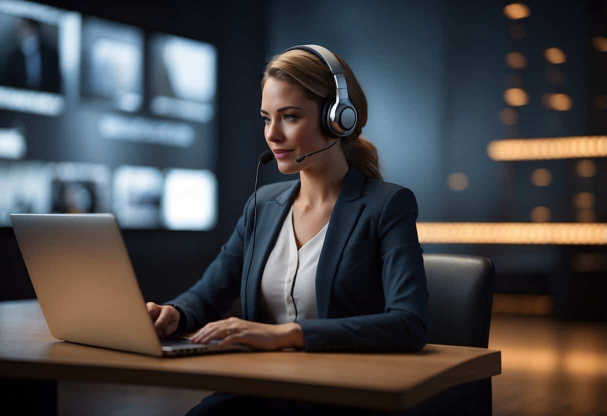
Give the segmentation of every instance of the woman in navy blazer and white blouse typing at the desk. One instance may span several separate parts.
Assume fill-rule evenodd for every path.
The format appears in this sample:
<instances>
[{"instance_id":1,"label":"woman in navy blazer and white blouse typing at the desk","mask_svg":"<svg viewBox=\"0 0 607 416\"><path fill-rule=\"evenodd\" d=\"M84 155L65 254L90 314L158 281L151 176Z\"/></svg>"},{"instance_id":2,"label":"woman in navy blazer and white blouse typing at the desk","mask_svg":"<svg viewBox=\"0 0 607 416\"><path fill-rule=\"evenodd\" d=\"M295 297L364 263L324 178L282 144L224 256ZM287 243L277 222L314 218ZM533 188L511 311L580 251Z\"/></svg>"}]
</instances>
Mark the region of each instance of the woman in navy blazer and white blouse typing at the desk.
<instances>
[{"instance_id":1,"label":"woman in navy blazer and white blouse typing at the desk","mask_svg":"<svg viewBox=\"0 0 607 416\"><path fill-rule=\"evenodd\" d=\"M200 328L195 343L308 352L419 351L426 343L428 292L415 196L382 181L375 146L360 136L367 99L350 67L335 58L357 113L353 132L336 138L324 124L336 95L327 61L300 49L271 59L262 79L265 139L280 172L299 172L299 180L261 187L256 220L251 196L203 277L166 305L148 303L161 337ZM336 141L341 146L331 146ZM220 320L239 295L243 319ZM190 414L251 406L320 409L214 394Z\"/></svg>"}]
</instances>

